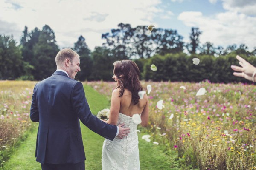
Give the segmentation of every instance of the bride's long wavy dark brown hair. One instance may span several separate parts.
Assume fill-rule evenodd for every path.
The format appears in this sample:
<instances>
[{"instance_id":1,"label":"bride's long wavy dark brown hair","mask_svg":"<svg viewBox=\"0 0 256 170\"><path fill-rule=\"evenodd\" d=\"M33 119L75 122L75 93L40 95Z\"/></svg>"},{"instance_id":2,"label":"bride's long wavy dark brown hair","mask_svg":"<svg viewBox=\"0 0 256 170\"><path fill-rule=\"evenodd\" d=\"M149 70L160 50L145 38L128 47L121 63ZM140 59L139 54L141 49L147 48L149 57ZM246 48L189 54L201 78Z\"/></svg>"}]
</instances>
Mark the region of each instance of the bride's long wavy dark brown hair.
<instances>
[{"instance_id":1,"label":"bride's long wavy dark brown hair","mask_svg":"<svg viewBox=\"0 0 256 170\"><path fill-rule=\"evenodd\" d=\"M134 105L136 105L140 99L138 92L142 90L142 85L139 80L140 70L138 66L131 60L116 61L113 65L115 66L114 74L120 82L120 85L116 87L120 88L119 97L124 94L125 89L128 89L131 91L131 99L134 102Z\"/></svg>"}]
</instances>

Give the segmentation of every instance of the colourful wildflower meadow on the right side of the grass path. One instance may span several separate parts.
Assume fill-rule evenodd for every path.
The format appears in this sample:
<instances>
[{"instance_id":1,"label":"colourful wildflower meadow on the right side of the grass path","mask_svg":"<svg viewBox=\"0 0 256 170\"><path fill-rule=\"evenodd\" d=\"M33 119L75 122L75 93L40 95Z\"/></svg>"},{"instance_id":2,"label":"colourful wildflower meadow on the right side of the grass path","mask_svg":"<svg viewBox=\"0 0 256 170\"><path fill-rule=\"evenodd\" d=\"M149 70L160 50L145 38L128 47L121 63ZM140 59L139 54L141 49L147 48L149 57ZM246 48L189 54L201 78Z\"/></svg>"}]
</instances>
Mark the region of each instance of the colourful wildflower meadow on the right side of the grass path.
<instances>
[{"instance_id":1,"label":"colourful wildflower meadow on the right side of the grass path","mask_svg":"<svg viewBox=\"0 0 256 170\"><path fill-rule=\"evenodd\" d=\"M109 99L116 87L116 82L87 84ZM190 169L256 169L254 85L214 84L207 80L142 82L142 85L145 91L147 85L152 87L145 130L149 136L145 142L165 146L167 156L175 151L177 161ZM206 91L196 96L200 88ZM158 108L160 100L163 107Z\"/></svg>"}]
</instances>

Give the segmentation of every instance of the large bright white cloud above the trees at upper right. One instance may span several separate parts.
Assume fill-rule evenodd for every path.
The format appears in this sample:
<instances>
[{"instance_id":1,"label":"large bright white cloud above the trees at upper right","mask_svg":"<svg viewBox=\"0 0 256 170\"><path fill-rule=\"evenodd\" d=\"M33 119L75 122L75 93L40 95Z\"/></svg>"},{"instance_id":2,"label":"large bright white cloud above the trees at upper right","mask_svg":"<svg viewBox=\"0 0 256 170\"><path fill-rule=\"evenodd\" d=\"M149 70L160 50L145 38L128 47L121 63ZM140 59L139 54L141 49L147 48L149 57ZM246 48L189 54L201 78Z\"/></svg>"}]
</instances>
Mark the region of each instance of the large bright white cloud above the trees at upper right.
<instances>
[{"instance_id":1,"label":"large bright white cloud above the trees at upper right","mask_svg":"<svg viewBox=\"0 0 256 170\"><path fill-rule=\"evenodd\" d=\"M201 43L209 41L224 47L244 43L250 50L256 46L256 17L231 11L212 17L205 17L201 12L182 12L178 20L186 26L198 27L203 32Z\"/></svg>"}]
</instances>

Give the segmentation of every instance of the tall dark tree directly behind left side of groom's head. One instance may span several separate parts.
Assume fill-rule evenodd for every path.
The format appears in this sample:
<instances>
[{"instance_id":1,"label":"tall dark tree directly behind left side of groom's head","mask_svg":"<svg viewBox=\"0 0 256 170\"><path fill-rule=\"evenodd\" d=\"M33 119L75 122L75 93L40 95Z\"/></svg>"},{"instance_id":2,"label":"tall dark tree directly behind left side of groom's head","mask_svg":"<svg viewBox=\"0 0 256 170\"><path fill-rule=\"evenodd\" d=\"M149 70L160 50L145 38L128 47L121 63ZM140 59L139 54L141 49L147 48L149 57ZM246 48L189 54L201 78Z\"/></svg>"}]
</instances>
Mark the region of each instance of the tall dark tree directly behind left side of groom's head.
<instances>
[{"instance_id":1,"label":"tall dark tree directly behind left side of groom's head","mask_svg":"<svg viewBox=\"0 0 256 170\"><path fill-rule=\"evenodd\" d=\"M54 31L45 25L39 34L38 42L33 47L34 56L31 63L35 67L33 76L36 80L45 79L55 71L55 56L59 51L55 43Z\"/></svg>"}]
</instances>

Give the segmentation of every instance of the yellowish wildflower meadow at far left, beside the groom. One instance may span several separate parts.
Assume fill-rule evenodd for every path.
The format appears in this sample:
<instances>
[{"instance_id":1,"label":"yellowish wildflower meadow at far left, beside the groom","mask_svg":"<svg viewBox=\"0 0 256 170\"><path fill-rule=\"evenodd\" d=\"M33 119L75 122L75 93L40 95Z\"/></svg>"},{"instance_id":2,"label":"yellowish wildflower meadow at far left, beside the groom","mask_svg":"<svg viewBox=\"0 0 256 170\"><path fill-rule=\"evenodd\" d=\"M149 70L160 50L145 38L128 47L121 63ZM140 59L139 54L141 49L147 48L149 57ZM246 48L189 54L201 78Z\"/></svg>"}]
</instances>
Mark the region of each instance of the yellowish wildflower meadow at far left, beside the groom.
<instances>
[{"instance_id":1,"label":"yellowish wildflower meadow at far left, beside the groom","mask_svg":"<svg viewBox=\"0 0 256 170\"><path fill-rule=\"evenodd\" d=\"M0 165L29 130L30 105L35 82L0 81Z\"/></svg>"}]
</instances>

